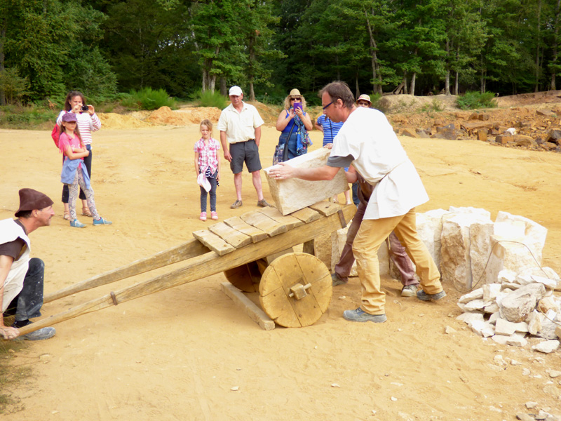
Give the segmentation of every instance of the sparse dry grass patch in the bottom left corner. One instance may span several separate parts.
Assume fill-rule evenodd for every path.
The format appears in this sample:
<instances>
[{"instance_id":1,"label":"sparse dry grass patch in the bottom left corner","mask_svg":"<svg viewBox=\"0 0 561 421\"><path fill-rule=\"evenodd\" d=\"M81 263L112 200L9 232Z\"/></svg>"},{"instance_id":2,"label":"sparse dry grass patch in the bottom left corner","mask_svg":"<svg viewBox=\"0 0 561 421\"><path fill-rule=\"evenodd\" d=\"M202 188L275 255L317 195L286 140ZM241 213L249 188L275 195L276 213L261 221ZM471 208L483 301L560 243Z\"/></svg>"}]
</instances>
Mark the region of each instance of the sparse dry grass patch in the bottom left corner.
<instances>
[{"instance_id":1,"label":"sparse dry grass patch in the bottom left corner","mask_svg":"<svg viewBox=\"0 0 561 421\"><path fill-rule=\"evenodd\" d=\"M23 340L0 340L0 414L11 413L21 410L18 408L18 401L12 398L11 394L6 393L18 383L29 377L32 369L25 366L10 365L9 362L27 345Z\"/></svg>"}]
</instances>

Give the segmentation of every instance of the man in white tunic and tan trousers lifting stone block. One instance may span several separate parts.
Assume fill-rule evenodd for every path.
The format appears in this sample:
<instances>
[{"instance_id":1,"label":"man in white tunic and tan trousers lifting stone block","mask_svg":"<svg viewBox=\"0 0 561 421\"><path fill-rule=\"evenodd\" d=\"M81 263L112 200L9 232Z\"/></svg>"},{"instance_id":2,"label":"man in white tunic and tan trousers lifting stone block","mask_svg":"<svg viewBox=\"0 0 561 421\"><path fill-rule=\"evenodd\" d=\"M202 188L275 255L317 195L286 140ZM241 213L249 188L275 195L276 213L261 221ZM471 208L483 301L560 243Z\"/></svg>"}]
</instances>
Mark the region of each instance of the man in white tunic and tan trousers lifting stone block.
<instances>
[{"instance_id":1,"label":"man in white tunic and tan trousers lifting stone block","mask_svg":"<svg viewBox=\"0 0 561 421\"><path fill-rule=\"evenodd\" d=\"M323 112L332 121L344 121L337 140L333 142L327 165L292 168L280 163L279 168L269 174L280 180L292 177L331 180L340 168L352 164L374 186L353 242L362 301L357 309L346 310L344 318L375 323L386 321L386 297L380 288L377 253L392 231L405 245L417 267L422 288L417 291L417 298L428 301L445 297L438 268L417 234L415 206L428 201L428 195L386 116L376 109L355 107L353 93L344 82L328 84L320 95Z\"/></svg>"}]
</instances>

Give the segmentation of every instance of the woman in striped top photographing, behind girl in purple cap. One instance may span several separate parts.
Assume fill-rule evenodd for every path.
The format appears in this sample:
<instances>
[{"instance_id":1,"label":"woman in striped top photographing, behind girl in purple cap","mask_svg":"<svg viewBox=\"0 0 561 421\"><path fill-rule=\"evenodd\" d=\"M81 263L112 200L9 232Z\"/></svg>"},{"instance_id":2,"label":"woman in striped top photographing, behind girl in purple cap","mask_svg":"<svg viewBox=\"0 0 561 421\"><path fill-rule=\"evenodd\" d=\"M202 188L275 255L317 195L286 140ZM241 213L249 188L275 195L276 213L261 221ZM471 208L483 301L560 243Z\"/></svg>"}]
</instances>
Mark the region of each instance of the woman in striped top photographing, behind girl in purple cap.
<instances>
[{"instance_id":1,"label":"woman in striped top photographing, behind girl in purple cap","mask_svg":"<svg viewBox=\"0 0 561 421\"><path fill-rule=\"evenodd\" d=\"M86 149L90 151L90 154L83 159L83 163L86 164L86 170L90 179L92 177L92 132L98 131L101 128L101 121L95 114L95 109L93 105L86 105L86 98L80 91L70 91L66 95L65 108L60 112L57 119L57 124L60 125L62 121L62 116L67 112L73 112L76 114L76 120L78 121L78 130L81 135L81 139L86 145ZM62 156L64 161L64 156ZM64 185L62 187L62 203L65 205L65 214L63 218L65 220L70 219L70 213L68 208L68 186ZM80 199L82 199L82 215L93 216L88 208L88 202L86 201L86 194L80 189Z\"/></svg>"}]
</instances>

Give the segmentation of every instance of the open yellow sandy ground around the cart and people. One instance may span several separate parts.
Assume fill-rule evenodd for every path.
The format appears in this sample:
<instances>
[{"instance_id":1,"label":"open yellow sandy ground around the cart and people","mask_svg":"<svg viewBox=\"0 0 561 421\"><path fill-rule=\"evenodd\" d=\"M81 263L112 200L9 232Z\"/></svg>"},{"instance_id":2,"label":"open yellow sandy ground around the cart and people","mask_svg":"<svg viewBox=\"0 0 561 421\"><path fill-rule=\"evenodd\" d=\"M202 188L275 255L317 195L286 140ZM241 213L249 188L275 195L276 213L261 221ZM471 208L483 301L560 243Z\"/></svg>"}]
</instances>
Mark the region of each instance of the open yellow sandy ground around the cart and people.
<instances>
[{"instance_id":1,"label":"open yellow sandy ground around the cart and people","mask_svg":"<svg viewBox=\"0 0 561 421\"><path fill-rule=\"evenodd\" d=\"M318 147L320 133L312 138ZM31 236L32 255L46 262L46 293L176 246L209 225L198 220L197 139L198 126L95 133L95 199L114 225L74 229L62 220L61 158L49 133L0 130L0 218L18 208L21 187L56 202L51 226ZM277 139L274 128L264 128L265 166ZM543 265L561 273L560 154L401 140L431 197L419 211L475 206L492 218L499 210L531 218L549 229ZM220 220L257 209L248 173L243 192L244 206L230 210L234 185L224 166ZM43 316L151 276L48 303ZM264 331L222 293L224 280L218 274L56 325L55 338L11 356L32 376L11 391L3 420L475 421L543 408L561 413L561 377L546 374L561 370L560 351L536 354L477 337L454 319L460 294L451 285L447 298L424 303L400 298L400 284L384 279L388 322L374 325L342 319L360 298L351 279L334 289L315 325ZM445 334L445 326L455 333ZM502 366L497 355L520 365ZM537 408L527 410L527 401Z\"/></svg>"}]
</instances>

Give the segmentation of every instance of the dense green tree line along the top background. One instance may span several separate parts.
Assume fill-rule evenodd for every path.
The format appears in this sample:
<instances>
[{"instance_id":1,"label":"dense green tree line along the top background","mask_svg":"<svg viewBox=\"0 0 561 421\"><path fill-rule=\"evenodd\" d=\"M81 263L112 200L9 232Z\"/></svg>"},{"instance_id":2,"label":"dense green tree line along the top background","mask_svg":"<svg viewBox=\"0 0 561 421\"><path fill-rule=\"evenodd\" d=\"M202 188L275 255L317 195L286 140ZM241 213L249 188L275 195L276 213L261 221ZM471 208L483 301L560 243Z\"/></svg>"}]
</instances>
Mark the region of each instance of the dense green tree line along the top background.
<instances>
[{"instance_id":1,"label":"dense green tree line along the top background","mask_svg":"<svg viewBox=\"0 0 561 421\"><path fill-rule=\"evenodd\" d=\"M555 90L561 0L2 0L0 104L79 89L188 98Z\"/></svg>"}]
</instances>

